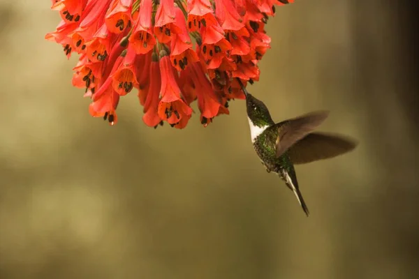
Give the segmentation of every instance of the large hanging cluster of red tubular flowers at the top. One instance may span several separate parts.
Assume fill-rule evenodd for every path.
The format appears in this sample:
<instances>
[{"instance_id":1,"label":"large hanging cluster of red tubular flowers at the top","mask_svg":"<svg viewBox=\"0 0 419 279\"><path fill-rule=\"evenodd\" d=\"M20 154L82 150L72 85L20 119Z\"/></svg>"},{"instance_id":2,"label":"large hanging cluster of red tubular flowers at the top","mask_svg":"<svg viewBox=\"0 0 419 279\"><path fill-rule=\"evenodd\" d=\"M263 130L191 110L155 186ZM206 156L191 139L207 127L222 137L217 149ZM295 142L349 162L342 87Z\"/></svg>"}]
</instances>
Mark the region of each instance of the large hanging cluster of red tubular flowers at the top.
<instances>
[{"instance_id":1,"label":"large hanging cluster of red tubular flowers at the top","mask_svg":"<svg viewBox=\"0 0 419 279\"><path fill-rule=\"evenodd\" d=\"M138 90L143 121L184 128L198 100L204 126L228 114L259 78L270 48L274 5L293 0L52 0L61 22L47 40L80 54L73 85L91 98L89 112L117 123L121 96Z\"/></svg>"}]
</instances>

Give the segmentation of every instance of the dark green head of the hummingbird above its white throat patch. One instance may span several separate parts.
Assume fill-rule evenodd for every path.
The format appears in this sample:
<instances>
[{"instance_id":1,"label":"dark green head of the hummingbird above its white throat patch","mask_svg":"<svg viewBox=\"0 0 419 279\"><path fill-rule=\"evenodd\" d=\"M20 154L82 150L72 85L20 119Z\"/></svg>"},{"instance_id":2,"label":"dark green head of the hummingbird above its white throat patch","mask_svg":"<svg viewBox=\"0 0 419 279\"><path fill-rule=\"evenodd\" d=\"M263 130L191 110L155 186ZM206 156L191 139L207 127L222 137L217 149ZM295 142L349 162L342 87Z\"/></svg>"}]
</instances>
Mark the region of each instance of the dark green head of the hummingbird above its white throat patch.
<instances>
[{"instance_id":1,"label":"dark green head of the hummingbird above its white throat patch","mask_svg":"<svg viewBox=\"0 0 419 279\"><path fill-rule=\"evenodd\" d=\"M247 116L249 116L249 119L253 125L258 127L265 127L274 124L274 121L272 120L266 105L261 100L253 97L249 92L245 92L245 95Z\"/></svg>"}]
</instances>

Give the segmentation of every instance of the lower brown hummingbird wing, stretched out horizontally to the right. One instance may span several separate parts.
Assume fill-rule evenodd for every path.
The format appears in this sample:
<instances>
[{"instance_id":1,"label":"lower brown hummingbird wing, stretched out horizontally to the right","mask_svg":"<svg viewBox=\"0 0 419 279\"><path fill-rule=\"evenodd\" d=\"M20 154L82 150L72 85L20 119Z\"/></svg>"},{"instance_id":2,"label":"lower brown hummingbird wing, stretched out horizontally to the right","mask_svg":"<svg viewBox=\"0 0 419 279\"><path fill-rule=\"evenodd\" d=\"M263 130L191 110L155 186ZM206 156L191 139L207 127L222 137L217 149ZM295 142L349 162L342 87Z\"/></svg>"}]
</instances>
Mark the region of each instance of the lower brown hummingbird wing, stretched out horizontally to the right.
<instances>
[{"instance_id":1,"label":"lower brown hummingbird wing, stretched out horizontally to the right","mask_svg":"<svg viewBox=\"0 0 419 279\"><path fill-rule=\"evenodd\" d=\"M291 146L288 153L294 164L305 164L339 156L357 145L357 141L343 135L310 133Z\"/></svg>"}]
</instances>

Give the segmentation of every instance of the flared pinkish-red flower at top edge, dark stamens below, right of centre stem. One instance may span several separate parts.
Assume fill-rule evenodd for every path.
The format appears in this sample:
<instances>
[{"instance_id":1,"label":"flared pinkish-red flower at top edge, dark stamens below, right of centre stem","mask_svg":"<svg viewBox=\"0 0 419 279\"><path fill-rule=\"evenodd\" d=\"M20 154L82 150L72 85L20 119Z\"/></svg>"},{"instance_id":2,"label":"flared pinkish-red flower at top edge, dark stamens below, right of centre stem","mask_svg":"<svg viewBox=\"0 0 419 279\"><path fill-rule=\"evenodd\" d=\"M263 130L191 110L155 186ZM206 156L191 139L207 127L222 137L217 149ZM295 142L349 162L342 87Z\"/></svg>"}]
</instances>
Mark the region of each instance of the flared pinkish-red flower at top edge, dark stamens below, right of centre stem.
<instances>
[{"instance_id":1,"label":"flared pinkish-red flower at top edge, dark stamens below, right of centre stem","mask_svg":"<svg viewBox=\"0 0 419 279\"><path fill-rule=\"evenodd\" d=\"M188 0L188 29L189 31L198 31L202 27L217 24L209 0Z\"/></svg>"}]
</instances>

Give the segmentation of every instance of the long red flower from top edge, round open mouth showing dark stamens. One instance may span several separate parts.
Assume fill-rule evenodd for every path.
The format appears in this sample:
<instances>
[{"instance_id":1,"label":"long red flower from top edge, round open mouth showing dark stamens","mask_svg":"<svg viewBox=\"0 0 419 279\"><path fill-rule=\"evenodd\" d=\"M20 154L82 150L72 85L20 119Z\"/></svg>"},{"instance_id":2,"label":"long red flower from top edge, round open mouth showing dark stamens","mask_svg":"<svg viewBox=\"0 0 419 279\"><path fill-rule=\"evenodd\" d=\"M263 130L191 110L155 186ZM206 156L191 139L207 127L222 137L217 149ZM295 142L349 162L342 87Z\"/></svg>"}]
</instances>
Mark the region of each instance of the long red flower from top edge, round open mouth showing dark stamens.
<instances>
[{"instance_id":1,"label":"long red flower from top edge, round open mouth showing dark stamens","mask_svg":"<svg viewBox=\"0 0 419 279\"><path fill-rule=\"evenodd\" d=\"M145 54L156 45L156 39L152 33L152 6L152 0L141 1L138 20L129 38L129 42L138 54Z\"/></svg>"}]
</instances>

